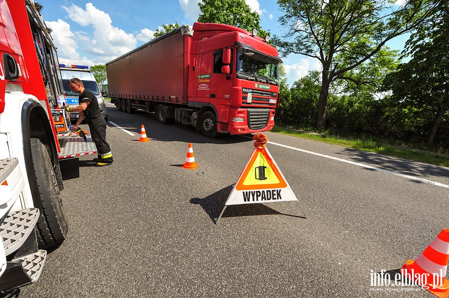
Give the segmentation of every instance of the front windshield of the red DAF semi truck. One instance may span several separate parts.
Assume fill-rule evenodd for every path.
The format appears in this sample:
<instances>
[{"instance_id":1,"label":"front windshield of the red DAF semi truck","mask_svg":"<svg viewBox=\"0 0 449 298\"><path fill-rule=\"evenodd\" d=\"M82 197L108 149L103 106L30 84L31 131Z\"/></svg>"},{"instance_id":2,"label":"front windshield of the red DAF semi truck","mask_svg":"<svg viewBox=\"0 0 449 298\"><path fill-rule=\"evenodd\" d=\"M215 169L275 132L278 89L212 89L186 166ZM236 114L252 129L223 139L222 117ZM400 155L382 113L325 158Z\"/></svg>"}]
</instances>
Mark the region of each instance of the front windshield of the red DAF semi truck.
<instances>
[{"instance_id":1,"label":"front windshield of the red DAF semi truck","mask_svg":"<svg viewBox=\"0 0 449 298\"><path fill-rule=\"evenodd\" d=\"M278 85L278 61L257 52L237 50L237 78Z\"/></svg>"}]
</instances>

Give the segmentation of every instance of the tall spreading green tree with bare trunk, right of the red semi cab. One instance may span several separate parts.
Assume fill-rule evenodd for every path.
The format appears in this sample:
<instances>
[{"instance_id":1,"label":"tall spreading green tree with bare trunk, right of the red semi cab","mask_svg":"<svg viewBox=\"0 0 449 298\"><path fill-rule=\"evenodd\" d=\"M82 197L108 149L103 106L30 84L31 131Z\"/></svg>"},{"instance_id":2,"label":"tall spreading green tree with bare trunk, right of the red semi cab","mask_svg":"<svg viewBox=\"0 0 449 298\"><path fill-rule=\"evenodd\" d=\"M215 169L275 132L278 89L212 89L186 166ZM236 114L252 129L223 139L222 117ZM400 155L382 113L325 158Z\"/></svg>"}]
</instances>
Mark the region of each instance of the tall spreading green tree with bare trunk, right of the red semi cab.
<instances>
[{"instance_id":1,"label":"tall spreading green tree with bare trunk, right of the red semi cab","mask_svg":"<svg viewBox=\"0 0 449 298\"><path fill-rule=\"evenodd\" d=\"M302 54L322 66L317 127L326 125L331 83L368 60L375 61L385 43L429 21L436 10L430 0L397 6L390 0L278 0L287 32L274 37L283 55Z\"/></svg>"}]
</instances>

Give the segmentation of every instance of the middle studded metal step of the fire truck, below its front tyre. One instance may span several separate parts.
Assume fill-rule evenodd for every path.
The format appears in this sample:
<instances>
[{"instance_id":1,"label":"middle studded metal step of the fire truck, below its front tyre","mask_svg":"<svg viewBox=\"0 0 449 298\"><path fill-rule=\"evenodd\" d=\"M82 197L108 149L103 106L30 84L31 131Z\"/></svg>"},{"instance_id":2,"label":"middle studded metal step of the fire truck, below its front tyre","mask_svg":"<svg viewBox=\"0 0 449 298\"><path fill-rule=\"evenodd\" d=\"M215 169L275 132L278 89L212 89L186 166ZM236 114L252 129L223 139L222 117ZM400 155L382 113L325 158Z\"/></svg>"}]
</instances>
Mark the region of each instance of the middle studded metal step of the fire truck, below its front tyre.
<instances>
[{"instance_id":1,"label":"middle studded metal step of the fire truck, below its front tyre","mask_svg":"<svg viewBox=\"0 0 449 298\"><path fill-rule=\"evenodd\" d=\"M39 209L37 208L26 208L8 213L0 225L0 237L6 256L16 251L25 242L34 230L38 217Z\"/></svg>"}]
</instances>

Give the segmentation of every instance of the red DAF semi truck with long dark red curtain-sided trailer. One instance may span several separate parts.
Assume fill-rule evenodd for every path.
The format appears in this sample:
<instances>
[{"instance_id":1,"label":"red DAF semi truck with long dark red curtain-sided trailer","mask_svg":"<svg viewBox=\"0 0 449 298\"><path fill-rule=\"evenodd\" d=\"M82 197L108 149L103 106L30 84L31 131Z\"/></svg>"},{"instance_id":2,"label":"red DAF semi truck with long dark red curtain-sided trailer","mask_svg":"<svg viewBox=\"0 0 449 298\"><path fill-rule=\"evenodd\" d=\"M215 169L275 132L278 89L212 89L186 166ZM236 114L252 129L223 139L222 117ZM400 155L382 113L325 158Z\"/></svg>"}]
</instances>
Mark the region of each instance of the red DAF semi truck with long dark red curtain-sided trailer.
<instances>
[{"instance_id":1,"label":"red DAF semi truck with long dark red curtain-sided trailer","mask_svg":"<svg viewBox=\"0 0 449 298\"><path fill-rule=\"evenodd\" d=\"M111 102L210 138L270 130L282 61L267 40L225 24L181 26L106 64Z\"/></svg>"}]
</instances>

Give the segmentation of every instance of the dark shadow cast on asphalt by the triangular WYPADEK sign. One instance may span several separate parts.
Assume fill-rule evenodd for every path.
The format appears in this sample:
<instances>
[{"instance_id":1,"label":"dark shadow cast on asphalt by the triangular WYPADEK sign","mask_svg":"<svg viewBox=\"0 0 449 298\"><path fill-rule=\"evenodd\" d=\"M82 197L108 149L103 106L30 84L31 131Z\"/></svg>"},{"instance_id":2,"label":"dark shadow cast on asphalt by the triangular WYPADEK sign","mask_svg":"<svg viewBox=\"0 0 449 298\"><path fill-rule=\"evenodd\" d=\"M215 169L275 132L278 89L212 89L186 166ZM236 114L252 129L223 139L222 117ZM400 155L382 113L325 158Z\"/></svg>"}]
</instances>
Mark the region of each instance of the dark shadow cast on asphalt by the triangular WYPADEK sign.
<instances>
[{"instance_id":1,"label":"dark shadow cast on asphalt by the triangular WYPADEK sign","mask_svg":"<svg viewBox=\"0 0 449 298\"><path fill-rule=\"evenodd\" d=\"M214 223L217 223L217 218L220 212L225 207L225 202L230 192L232 191L233 185L225 187L224 189L207 196L206 198L192 198L190 202L192 204L199 204L208 213L209 217ZM304 216L292 215L281 213L276 211L262 203L256 204L242 204L242 205L229 205L226 207L223 217L237 217L237 216L254 216L254 215L285 215L298 218L306 218Z\"/></svg>"}]
</instances>

